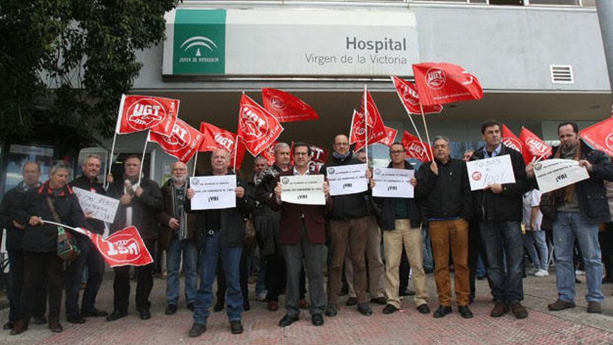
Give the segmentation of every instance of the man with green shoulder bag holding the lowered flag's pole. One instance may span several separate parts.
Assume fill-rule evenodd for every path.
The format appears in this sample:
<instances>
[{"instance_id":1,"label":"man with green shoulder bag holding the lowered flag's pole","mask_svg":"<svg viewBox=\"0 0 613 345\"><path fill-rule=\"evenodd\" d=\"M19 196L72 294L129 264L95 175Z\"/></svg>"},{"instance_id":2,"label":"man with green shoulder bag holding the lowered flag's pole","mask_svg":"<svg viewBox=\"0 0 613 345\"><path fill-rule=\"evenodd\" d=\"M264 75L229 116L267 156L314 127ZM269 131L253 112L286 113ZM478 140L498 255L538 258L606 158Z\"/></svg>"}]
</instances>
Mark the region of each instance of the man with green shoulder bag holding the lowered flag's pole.
<instances>
[{"instance_id":1,"label":"man with green shoulder bag holding the lowered flag's pole","mask_svg":"<svg viewBox=\"0 0 613 345\"><path fill-rule=\"evenodd\" d=\"M40 187L28 190L21 207L12 210L15 220L27 224L22 241L24 249L24 286L20 320L11 335L28 329L34 303L45 277L49 284L49 329L62 332L59 322L62 303L63 261L57 254L58 227L44 221L59 222L71 227L90 229L77 196L68 186L70 167L57 162L49 170L49 180Z\"/></svg>"}]
</instances>

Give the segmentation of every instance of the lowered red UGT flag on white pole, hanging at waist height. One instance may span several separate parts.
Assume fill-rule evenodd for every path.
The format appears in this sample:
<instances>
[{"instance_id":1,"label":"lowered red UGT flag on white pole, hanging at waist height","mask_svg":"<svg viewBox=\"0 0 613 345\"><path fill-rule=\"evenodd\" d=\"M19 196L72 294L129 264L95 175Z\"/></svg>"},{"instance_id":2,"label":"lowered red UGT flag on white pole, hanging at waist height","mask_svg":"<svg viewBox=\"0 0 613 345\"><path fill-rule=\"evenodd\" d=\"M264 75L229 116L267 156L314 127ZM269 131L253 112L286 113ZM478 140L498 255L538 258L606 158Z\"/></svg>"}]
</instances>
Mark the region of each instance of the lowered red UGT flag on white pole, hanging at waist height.
<instances>
[{"instance_id":1,"label":"lowered red UGT flag on white pole, hanging at waist height","mask_svg":"<svg viewBox=\"0 0 613 345\"><path fill-rule=\"evenodd\" d=\"M135 227L127 227L113 233L105 240L98 233L77 228L77 232L88 236L109 266L145 266L153 262L143 238Z\"/></svg>"}]
</instances>

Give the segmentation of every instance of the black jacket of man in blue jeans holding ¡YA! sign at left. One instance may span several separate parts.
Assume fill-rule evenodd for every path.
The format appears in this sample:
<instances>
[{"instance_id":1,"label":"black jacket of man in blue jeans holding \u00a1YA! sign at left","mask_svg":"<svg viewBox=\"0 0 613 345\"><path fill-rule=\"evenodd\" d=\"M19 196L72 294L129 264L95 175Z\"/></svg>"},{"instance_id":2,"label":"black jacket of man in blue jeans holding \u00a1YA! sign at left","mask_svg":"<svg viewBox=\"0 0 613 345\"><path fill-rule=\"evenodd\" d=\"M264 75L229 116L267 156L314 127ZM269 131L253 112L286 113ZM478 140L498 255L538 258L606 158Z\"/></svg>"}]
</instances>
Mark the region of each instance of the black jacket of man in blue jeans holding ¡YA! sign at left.
<instances>
[{"instance_id":1,"label":"black jacket of man in blue jeans holding \u00a1YA! sign at left","mask_svg":"<svg viewBox=\"0 0 613 345\"><path fill-rule=\"evenodd\" d=\"M228 171L228 175L233 174L232 171ZM205 176L212 176L212 173L208 172ZM242 199L236 198L235 208L224 208L219 210L222 247L226 248L242 247L242 243L245 240L245 222L247 217L249 217L249 213L253 212L256 206L256 201L253 195L250 194L251 188L247 187L247 183L244 179L236 176L236 187L245 188L245 196L242 197ZM205 210L192 210L192 202L189 201L189 199L185 199L185 210L189 213L196 213L198 215L196 229L198 229L199 236L202 238L201 243L205 243Z\"/></svg>"}]
</instances>

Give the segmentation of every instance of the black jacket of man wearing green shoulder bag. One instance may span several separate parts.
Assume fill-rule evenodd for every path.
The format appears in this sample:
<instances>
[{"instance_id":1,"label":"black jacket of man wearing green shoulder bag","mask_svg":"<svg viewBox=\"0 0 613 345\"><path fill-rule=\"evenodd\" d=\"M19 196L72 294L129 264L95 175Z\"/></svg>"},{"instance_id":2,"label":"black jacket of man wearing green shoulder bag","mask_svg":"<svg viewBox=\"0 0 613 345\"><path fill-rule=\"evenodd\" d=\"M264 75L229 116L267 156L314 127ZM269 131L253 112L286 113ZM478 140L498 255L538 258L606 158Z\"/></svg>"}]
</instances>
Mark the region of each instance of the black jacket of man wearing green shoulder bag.
<instances>
[{"instance_id":1,"label":"black jacket of man wearing green shoulder bag","mask_svg":"<svg viewBox=\"0 0 613 345\"><path fill-rule=\"evenodd\" d=\"M42 253L57 251L56 225L38 224L32 227L29 224L30 217L33 215L42 218L42 220L56 221L51 210L49 210L47 197L52 198L54 208L62 224L91 229L91 225L85 219L79 200L72 189L65 185L59 192L53 192L49 190L49 181L47 181L38 188L28 190L22 199L21 206L13 210L15 220L20 224L26 224L22 241L22 247L26 251ZM68 231L68 229L65 230Z\"/></svg>"}]
</instances>

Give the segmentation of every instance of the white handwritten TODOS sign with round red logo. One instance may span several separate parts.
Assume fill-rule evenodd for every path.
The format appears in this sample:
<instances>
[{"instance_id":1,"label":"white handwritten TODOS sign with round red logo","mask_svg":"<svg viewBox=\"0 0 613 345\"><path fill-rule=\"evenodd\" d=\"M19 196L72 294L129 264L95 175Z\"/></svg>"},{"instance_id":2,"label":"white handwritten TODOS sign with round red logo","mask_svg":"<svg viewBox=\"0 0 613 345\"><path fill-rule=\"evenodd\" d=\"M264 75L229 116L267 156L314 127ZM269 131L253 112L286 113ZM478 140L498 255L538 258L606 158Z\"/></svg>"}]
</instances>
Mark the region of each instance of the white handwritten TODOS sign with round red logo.
<instances>
[{"instance_id":1,"label":"white handwritten TODOS sign with round red logo","mask_svg":"<svg viewBox=\"0 0 613 345\"><path fill-rule=\"evenodd\" d=\"M510 155L500 155L466 163L470 190L482 190L494 183L515 183Z\"/></svg>"}]
</instances>

